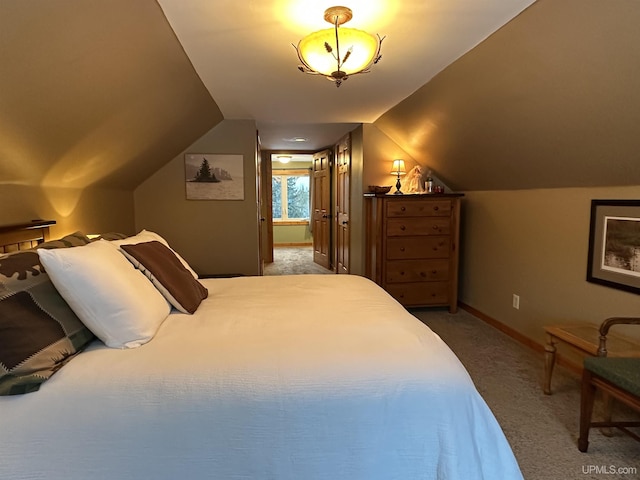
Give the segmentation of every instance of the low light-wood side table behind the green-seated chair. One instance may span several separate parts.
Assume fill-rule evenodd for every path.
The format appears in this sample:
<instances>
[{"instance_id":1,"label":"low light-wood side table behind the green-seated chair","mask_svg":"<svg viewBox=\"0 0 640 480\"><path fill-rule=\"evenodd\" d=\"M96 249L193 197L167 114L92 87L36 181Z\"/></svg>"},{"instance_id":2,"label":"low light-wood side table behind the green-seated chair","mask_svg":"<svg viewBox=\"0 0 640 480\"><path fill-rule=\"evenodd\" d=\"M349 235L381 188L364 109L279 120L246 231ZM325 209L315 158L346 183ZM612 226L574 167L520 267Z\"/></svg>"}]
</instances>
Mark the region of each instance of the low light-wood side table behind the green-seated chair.
<instances>
[{"instance_id":1,"label":"low light-wood side table behind the green-seated chair","mask_svg":"<svg viewBox=\"0 0 640 480\"><path fill-rule=\"evenodd\" d=\"M556 363L556 344L563 342L586 355L596 357L600 332L598 325L549 325L544 327L546 345L544 347L544 385L543 391L551 395L551 375ZM640 344L632 340L613 335L607 335L607 354L610 357L640 357Z\"/></svg>"}]
</instances>

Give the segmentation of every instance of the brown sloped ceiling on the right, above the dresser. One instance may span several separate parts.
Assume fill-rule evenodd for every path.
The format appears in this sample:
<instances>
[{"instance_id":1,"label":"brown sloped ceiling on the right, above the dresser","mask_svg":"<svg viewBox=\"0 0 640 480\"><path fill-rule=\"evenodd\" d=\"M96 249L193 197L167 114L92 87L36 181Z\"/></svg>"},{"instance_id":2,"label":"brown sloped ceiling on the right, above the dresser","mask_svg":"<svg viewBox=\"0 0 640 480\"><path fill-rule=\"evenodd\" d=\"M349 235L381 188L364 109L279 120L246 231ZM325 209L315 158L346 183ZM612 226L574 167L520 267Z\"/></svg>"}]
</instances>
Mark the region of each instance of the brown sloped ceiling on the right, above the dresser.
<instances>
[{"instance_id":1,"label":"brown sloped ceiling on the right, above the dresser","mask_svg":"<svg viewBox=\"0 0 640 480\"><path fill-rule=\"evenodd\" d=\"M375 125L456 190L639 185L638 25L539 0Z\"/></svg>"}]
</instances>

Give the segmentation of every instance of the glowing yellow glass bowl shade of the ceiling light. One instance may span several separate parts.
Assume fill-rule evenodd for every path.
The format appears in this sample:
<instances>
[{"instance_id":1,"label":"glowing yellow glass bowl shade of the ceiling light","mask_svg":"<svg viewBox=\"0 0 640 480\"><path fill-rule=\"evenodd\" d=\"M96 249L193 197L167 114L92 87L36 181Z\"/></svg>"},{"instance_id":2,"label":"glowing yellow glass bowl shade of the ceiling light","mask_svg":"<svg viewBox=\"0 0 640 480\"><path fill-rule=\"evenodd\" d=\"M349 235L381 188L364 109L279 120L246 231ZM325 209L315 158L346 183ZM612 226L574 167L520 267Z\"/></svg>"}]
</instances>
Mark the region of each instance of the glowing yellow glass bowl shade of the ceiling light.
<instances>
[{"instance_id":1,"label":"glowing yellow glass bowl shade of the ceiling light","mask_svg":"<svg viewBox=\"0 0 640 480\"><path fill-rule=\"evenodd\" d=\"M342 65L342 70L347 75L352 75L371 66L379 51L380 41L370 33L355 28L338 28L340 43L340 61L343 61L347 52L351 54ZM325 42L333 49L333 54L328 52ZM300 59L311 69L322 75L330 77L338 70L338 64L333 55L337 55L336 30L327 28L311 33L298 42L298 55Z\"/></svg>"}]
</instances>

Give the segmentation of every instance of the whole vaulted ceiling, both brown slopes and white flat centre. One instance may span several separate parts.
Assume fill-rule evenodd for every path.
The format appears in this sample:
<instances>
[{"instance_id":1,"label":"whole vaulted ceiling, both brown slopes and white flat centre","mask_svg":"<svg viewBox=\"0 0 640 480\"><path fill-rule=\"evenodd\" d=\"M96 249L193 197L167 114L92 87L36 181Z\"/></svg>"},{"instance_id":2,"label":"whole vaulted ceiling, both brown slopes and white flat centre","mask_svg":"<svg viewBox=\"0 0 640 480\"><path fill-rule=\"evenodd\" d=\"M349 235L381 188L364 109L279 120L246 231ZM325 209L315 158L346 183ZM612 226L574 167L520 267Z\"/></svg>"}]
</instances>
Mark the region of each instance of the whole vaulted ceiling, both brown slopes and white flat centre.
<instances>
[{"instance_id":1,"label":"whole vaulted ceiling, both brown slopes and white flat centre","mask_svg":"<svg viewBox=\"0 0 640 480\"><path fill-rule=\"evenodd\" d=\"M131 189L239 118L266 149L373 123L461 190L640 184L635 0L353 0L383 59L339 89L291 46L333 3L0 2L0 185Z\"/></svg>"}]
</instances>

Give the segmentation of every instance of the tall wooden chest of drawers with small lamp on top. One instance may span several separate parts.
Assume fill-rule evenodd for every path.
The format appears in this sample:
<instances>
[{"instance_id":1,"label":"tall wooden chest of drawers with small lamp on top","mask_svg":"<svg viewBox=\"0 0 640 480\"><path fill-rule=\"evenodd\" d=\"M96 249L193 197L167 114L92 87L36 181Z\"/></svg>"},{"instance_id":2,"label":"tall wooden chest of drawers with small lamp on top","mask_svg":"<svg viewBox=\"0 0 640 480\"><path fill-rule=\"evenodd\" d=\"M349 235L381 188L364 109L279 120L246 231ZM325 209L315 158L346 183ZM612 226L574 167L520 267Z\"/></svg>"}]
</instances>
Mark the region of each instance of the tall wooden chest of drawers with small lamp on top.
<instances>
[{"instance_id":1,"label":"tall wooden chest of drawers with small lamp on top","mask_svg":"<svg viewBox=\"0 0 640 480\"><path fill-rule=\"evenodd\" d=\"M366 195L367 277L405 306L455 313L462 196Z\"/></svg>"}]
</instances>

